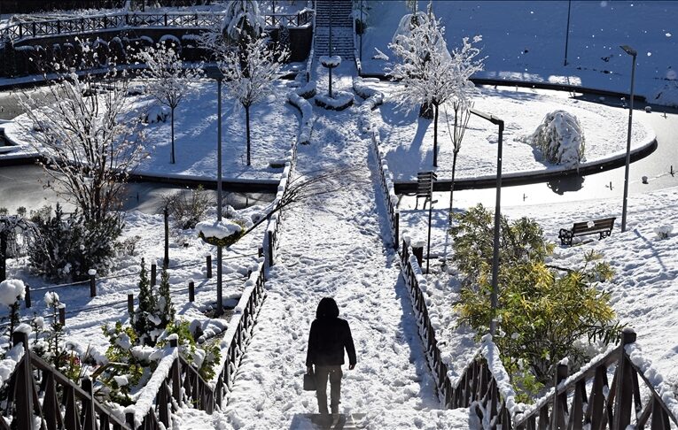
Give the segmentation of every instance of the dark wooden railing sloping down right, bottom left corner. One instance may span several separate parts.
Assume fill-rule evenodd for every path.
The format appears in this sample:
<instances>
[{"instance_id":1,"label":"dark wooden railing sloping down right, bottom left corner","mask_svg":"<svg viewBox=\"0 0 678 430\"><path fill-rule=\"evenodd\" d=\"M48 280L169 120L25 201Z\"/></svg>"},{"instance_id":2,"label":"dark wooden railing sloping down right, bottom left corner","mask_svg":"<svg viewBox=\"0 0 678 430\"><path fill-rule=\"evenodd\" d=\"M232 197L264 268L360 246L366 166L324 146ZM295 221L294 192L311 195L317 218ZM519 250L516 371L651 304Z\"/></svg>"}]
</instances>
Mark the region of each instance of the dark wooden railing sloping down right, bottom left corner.
<instances>
[{"instance_id":1,"label":"dark wooden railing sloping down right, bottom left corner","mask_svg":"<svg viewBox=\"0 0 678 430\"><path fill-rule=\"evenodd\" d=\"M9 383L7 405L12 415L12 428L35 428L35 419L39 419L38 428L41 429L129 429L95 400L90 379L82 380L82 386L78 386L37 357L28 348L27 333L14 332L12 341L24 348ZM2 416L0 429L10 429Z\"/></svg>"}]
</instances>

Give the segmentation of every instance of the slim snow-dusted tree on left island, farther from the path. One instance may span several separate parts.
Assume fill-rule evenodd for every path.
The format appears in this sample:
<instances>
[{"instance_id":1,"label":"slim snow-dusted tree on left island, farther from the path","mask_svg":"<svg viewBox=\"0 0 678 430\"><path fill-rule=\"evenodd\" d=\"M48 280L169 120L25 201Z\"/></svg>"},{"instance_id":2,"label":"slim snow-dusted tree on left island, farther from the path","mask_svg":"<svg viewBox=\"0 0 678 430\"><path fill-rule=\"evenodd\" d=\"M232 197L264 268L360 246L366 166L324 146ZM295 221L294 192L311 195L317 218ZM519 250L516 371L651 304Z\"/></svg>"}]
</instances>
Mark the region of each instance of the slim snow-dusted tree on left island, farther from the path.
<instances>
[{"instance_id":1,"label":"slim snow-dusted tree on left island, farther from the path","mask_svg":"<svg viewBox=\"0 0 678 430\"><path fill-rule=\"evenodd\" d=\"M146 65L142 73L146 92L170 110L172 129L172 154L170 163L175 164L175 110L191 92L191 83L202 76L197 67L184 65L174 43L158 43L141 51L137 58Z\"/></svg>"}]
</instances>

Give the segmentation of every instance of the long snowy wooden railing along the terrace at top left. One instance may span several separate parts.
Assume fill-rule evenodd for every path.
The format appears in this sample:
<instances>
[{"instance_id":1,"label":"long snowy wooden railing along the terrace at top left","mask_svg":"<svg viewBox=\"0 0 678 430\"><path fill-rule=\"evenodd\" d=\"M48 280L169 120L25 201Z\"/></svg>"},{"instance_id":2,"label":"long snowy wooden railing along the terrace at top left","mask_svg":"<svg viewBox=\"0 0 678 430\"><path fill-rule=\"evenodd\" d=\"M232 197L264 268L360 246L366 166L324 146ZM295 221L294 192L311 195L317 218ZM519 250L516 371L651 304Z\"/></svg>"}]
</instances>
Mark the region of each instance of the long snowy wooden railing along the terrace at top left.
<instances>
[{"instance_id":1,"label":"long snowy wooden railing along the terrace at top left","mask_svg":"<svg viewBox=\"0 0 678 430\"><path fill-rule=\"evenodd\" d=\"M314 12L304 10L296 14L274 14L264 16L267 26L301 27L311 24ZM91 15L68 19L46 19L18 22L0 28L0 43L5 40L21 42L27 39L55 36L79 35L97 31L141 28L208 28L217 25L224 12L118 12L106 15Z\"/></svg>"}]
</instances>

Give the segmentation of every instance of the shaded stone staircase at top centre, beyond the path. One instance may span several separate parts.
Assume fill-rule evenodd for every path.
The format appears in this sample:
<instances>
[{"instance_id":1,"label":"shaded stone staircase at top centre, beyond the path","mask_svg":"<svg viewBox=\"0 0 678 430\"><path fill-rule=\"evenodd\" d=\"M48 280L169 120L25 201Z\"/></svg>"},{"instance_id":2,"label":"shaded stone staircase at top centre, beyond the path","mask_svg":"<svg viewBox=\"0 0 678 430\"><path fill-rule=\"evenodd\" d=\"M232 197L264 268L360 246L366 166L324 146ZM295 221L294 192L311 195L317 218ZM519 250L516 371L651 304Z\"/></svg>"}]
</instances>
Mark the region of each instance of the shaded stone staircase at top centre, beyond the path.
<instances>
[{"instance_id":1,"label":"shaded stone staircase at top centre, beyond the path","mask_svg":"<svg viewBox=\"0 0 678 430\"><path fill-rule=\"evenodd\" d=\"M338 55L342 60L353 61L353 22L351 0L316 1L316 56ZM330 18L332 29L332 51L330 52Z\"/></svg>"}]
</instances>

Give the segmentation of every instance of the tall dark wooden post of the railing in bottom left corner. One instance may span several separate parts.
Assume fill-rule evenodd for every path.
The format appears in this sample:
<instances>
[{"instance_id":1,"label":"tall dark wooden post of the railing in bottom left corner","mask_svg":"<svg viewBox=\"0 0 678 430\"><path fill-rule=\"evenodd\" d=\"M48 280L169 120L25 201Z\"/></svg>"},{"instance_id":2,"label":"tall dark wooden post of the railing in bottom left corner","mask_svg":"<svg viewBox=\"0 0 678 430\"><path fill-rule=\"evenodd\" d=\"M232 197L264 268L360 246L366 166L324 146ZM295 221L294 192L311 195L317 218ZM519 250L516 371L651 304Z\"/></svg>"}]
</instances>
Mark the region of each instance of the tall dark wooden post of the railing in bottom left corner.
<instances>
[{"instance_id":1,"label":"tall dark wooden post of the railing in bottom left corner","mask_svg":"<svg viewBox=\"0 0 678 430\"><path fill-rule=\"evenodd\" d=\"M12 343L18 345L21 343L24 350L28 351L28 334L24 332L14 332L12 334ZM12 425L16 421L16 428L33 428L33 392L35 381L33 380L33 369L31 366L30 354L25 353L19 361L14 380L14 404L16 405L16 415L13 417Z\"/></svg>"}]
</instances>

